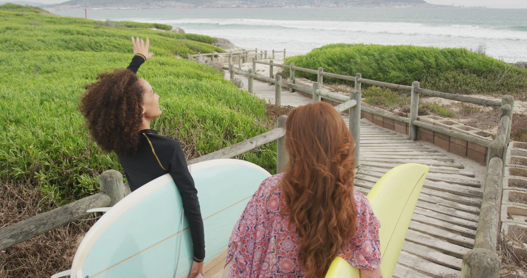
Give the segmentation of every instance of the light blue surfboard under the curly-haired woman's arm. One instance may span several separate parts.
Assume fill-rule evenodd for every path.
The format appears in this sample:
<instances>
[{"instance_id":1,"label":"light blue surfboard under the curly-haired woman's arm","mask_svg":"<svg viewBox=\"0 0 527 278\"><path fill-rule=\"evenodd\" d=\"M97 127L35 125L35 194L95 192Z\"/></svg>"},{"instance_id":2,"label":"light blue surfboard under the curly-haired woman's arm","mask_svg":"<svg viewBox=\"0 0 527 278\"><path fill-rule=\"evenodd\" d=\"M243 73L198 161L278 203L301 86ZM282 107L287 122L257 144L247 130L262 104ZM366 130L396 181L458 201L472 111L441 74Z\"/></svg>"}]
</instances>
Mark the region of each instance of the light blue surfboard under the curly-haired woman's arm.
<instances>
[{"instance_id":1,"label":"light blue surfboard under the curly-haired woman's arm","mask_svg":"<svg viewBox=\"0 0 527 278\"><path fill-rule=\"evenodd\" d=\"M270 174L250 162L231 159L200 162L189 169L198 190L207 263L227 248L232 227ZM187 277L192 240L182 211L181 196L169 174L141 186L86 233L70 277L171 278L177 261L176 277Z\"/></svg>"}]
</instances>

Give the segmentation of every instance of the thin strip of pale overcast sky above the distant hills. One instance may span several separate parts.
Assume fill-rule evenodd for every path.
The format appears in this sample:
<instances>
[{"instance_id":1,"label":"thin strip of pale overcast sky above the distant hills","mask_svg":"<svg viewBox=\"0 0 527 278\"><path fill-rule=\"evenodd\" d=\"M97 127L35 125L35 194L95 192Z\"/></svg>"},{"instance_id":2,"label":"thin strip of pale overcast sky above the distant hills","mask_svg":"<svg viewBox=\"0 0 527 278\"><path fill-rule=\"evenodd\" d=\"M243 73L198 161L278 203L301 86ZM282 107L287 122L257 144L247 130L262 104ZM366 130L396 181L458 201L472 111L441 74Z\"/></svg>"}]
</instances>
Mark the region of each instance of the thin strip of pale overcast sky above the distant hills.
<instances>
[{"instance_id":1,"label":"thin strip of pale overcast sky above the distant hills","mask_svg":"<svg viewBox=\"0 0 527 278\"><path fill-rule=\"evenodd\" d=\"M16 0L13 0L16 1ZM27 2L54 4L67 0L25 0ZM430 4L440 5L465 5L465 6L487 6L489 8L527 8L527 0L425 0ZM9 2L0 0L0 2Z\"/></svg>"}]
</instances>

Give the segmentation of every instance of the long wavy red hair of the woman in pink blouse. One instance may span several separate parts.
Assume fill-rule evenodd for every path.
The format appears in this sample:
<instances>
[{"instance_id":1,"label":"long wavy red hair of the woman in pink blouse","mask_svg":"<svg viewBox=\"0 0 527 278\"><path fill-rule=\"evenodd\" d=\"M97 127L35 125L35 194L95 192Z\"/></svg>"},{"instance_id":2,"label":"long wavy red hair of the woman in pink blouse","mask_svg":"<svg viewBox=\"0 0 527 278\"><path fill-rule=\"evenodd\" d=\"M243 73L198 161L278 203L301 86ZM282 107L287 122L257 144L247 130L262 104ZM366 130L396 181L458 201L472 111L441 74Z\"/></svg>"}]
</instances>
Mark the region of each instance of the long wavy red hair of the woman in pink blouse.
<instances>
[{"instance_id":1,"label":"long wavy red hair of the woman in pink blouse","mask_svg":"<svg viewBox=\"0 0 527 278\"><path fill-rule=\"evenodd\" d=\"M300 237L306 277L323 277L357 227L355 143L336 110L317 102L289 112L286 151L284 213Z\"/></svg>"}]
</instances>

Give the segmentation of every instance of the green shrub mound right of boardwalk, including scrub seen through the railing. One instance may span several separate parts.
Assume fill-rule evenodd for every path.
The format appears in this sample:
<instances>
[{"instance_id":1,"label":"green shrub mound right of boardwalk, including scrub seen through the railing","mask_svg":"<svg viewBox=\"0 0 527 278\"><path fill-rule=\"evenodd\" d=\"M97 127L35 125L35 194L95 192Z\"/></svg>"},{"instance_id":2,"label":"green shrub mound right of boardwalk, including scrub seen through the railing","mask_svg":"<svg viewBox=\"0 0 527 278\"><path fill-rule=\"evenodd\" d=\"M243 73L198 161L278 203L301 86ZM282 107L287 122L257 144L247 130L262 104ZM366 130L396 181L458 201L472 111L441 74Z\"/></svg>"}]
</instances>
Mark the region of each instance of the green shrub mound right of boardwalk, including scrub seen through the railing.
<instances>
[{"instance_id":1,"label":"green shrub mound right of boardwalk, including scrub seen through the railing","mask_svg":"<svg viewBox=\"0 0 527 278\"><path fill-rule=\"evenodd\" d=\"M499 97L509 94L516 100L527 100L527 70L465 48L437 48L411 45L330 44L313 49L306 55L291 56L286 64L305 68L323 67L325 72L351 75L402 85L419 81L422 88L452 94L483 94ZM289 75L288 70L284 71ZM296 77L316 81L316 74L295 72ZM334 84L343 92L353 90L342 85L352 82L324 77L324 84ZM363 84L367 104L389 111L409 111L408 92ZM419 114L432 113L456 118L461 113L475 115L480 107L461 105L452 111L436 103L421 102ZM497 113L497 112L496 112ZM482 116L481 114L478 116ZM513 140L527 142L527 115L513 117Z\"/></svg>"}]
</instances>

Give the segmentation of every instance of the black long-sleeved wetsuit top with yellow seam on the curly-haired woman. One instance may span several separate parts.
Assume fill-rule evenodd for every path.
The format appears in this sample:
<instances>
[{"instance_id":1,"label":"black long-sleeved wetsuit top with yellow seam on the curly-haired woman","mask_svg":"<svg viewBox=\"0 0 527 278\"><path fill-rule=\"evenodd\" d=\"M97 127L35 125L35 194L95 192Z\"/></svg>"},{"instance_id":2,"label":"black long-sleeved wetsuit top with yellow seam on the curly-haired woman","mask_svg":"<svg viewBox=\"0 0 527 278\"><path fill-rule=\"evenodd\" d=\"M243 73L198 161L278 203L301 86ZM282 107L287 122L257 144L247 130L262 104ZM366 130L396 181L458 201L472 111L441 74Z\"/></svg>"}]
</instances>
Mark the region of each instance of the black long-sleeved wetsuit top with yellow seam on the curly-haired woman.
<instances>
[{"instance_id":1,"label":"black long-sleeved wetsuit top with yellow seam on the curly-haired woman","mask_svg":"<svg viewBox=\"0 0 527 278\"><path fill-rule=\"evenodd\" d=\"M128 70L137 72L143 62L142 57L134 56ZM198 191L189 173L181 145L178 141L159 135L154 130L142 130L139 133L138 150L132 155L117 156L124 168L130 189L134 191L167 173L172 176L181 194L183 210L189 221L194 261L202 262L205 258L205 240Z\"/></svg>"}]
</instances>

